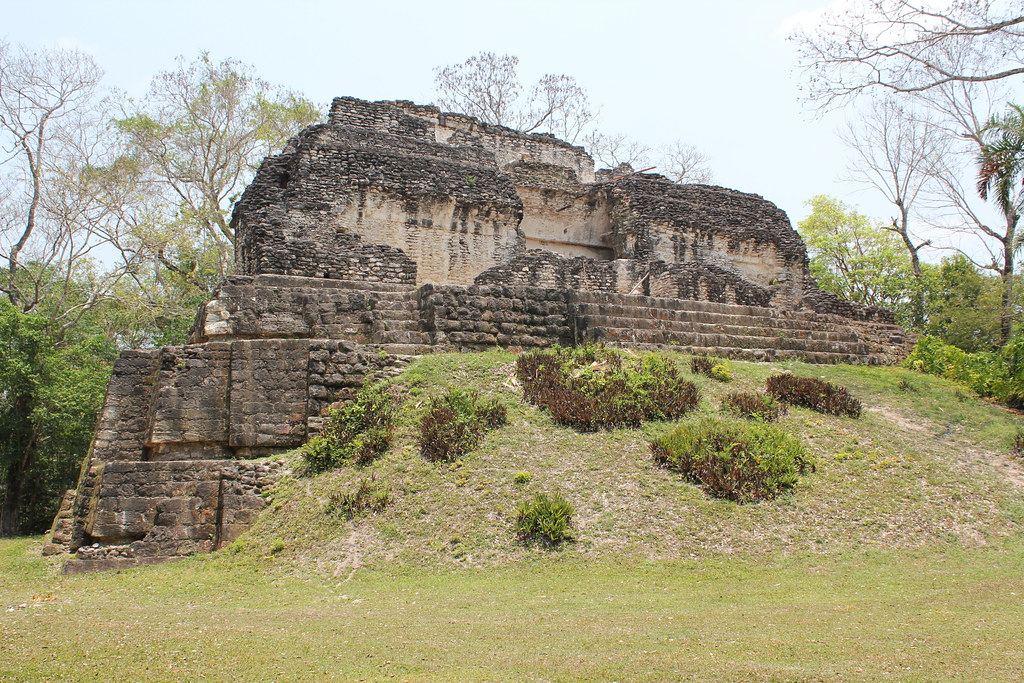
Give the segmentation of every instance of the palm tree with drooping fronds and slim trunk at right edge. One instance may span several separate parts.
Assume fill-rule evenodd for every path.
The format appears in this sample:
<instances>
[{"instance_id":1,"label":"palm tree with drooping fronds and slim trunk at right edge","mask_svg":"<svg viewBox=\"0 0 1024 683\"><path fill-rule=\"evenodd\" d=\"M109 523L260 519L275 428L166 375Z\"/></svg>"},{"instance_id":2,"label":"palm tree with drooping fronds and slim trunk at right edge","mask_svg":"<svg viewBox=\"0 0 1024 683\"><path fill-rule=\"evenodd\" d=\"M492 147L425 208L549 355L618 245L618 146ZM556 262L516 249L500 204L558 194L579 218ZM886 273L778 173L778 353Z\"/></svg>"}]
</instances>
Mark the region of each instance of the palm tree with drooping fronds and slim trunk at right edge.
<instances>
[{"instance_id":1,"label":"palm tree with drooping fronds and slim trunk at right edge","mask_svg":"<svg viewBox=\"0 0 1024 683\"><path fill-rule=\"evenodd\" d=\"M1006 221L1004 234L996 234L1002 243L1002 312L999 337L1002 344L1010 340L1013 321L1014 258L1020 247L1017 223L1024 213L1024 108L1010 104L1001 117L993 117L981 131L984 143L978 154L978 195L991 199ZM994 232L993 232L994 234Z\"/></svg>"}]
</instances>

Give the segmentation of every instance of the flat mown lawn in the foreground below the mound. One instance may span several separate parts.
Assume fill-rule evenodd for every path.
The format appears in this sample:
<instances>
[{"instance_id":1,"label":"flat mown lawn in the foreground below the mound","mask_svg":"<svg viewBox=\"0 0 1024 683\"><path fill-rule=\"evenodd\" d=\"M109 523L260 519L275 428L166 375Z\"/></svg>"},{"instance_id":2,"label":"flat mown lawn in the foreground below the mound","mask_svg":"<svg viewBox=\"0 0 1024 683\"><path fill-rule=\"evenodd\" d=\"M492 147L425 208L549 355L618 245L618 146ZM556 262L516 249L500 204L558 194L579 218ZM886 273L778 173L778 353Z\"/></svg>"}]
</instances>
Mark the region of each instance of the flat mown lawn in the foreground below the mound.
<instances>
[{"instance_id":1,"label":"flat mown lawn in the foreground below the mound","mask_svg":"<svg viewBox=\"0 0 1024 683\"><path fill-rule=\"evenodd\" d=\"M0 542L0 679L1020 680L1024 543L830 556L49 578ZM22 606L24 605L24 606ZM12 609L11 609L12 608Z\"/></svg>"}]
</instances>

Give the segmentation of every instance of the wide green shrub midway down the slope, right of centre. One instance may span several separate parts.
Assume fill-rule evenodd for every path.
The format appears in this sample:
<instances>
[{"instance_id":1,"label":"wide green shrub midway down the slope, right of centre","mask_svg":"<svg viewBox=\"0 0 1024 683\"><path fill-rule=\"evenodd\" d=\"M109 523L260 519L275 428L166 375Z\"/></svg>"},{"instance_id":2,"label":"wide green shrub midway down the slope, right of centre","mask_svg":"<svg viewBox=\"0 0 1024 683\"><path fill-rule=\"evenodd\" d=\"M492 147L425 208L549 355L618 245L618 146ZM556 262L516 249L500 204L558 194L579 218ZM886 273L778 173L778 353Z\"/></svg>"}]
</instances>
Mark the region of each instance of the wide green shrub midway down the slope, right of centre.
<instances>
[{"instance_id":1,"label":"wide green shrub midway down the slope, right of centre","mask_svg":"<svg viewBox=\"0 0 1024 683\"><path fill-rule=\"evenodd\" d=\"M814 470L803 443L777 427L714 418L680 425L650 451L658 465L737 503L774 498Z\"/></svg>"}]
</instances>

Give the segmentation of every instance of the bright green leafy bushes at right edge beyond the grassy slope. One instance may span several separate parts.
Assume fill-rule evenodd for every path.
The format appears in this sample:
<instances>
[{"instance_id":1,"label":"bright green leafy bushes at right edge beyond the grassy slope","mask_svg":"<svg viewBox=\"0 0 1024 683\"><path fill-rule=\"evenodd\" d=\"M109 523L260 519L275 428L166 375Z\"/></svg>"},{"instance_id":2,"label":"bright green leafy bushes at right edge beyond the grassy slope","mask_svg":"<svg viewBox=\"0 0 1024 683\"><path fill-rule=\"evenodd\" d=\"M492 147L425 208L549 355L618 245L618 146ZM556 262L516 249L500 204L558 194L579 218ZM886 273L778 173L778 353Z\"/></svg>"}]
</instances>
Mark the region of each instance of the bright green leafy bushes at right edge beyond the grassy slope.
<instances>
[{"instance_id":1,"label":"bright green leafy bushes at right edge beyond the grassy slope","mask_svg":"<svg viewBox=\"0 0 1024 683\"><path fill-rule=\"evenodd\" d=\"M1012 408L1024 407L1024 338L1011 340L997 352L968 353L935 337L922 337L904 365L952 380Z\"/></svg>"}]
</instances>

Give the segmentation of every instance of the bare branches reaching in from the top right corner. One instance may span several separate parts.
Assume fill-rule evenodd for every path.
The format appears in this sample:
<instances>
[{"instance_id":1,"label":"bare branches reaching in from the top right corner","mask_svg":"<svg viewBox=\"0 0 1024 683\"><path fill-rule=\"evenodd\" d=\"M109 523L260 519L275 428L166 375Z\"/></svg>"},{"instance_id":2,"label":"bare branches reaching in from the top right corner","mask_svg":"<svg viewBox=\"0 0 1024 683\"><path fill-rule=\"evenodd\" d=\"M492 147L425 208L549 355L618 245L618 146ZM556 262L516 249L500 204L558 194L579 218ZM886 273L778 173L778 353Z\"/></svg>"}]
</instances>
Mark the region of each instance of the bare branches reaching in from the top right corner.
<instances>
[{"instance_id":1,"label":"bare branches reaching in from the top right corner","mask_svg":"<svg viewBox=\"0 0 1024 683\"><path fill-rule=\"evenodd\" d=\"M808 97L823 106L872 90L992 82L1024 74L1024 3L848 0L791 40Z\"/></svg>"}]
</instances>

